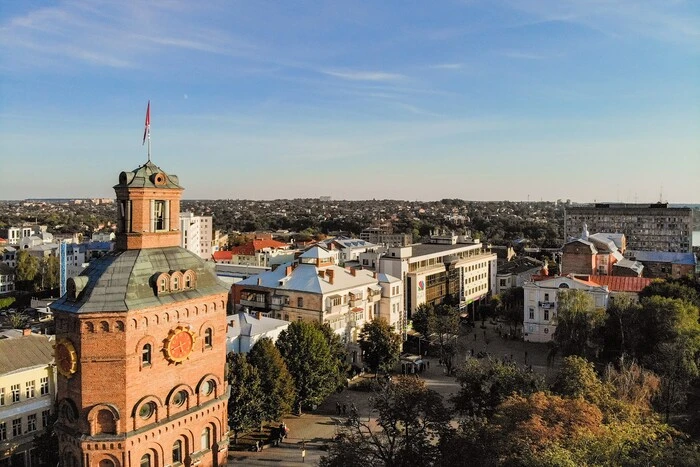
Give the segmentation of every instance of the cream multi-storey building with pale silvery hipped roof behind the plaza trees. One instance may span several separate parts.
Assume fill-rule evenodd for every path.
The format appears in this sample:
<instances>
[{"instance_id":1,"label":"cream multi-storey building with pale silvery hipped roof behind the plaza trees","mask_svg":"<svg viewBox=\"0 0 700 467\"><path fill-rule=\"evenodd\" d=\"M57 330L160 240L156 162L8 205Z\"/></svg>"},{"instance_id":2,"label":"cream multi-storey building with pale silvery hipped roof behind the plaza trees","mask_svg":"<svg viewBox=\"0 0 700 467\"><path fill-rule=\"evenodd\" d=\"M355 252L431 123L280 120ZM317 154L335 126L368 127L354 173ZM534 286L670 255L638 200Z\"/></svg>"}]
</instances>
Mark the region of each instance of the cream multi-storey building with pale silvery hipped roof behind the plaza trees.
<instances>
[{"instance_id":1,"label":"cream multi-storey building with pale silvery hipped roof behind the plaza trees","mask_svg":"<svg viewBox=\"0 0 700 467\"><path fill-rule=\"evenodd\" d=\"M359 362L362 326L382 317L404 331L403 286L398 278L335 264L325 249L314 246L293 263L233 284L237 309L263 312L286 321L328 323Z\"/></svg>"}]
</instances>

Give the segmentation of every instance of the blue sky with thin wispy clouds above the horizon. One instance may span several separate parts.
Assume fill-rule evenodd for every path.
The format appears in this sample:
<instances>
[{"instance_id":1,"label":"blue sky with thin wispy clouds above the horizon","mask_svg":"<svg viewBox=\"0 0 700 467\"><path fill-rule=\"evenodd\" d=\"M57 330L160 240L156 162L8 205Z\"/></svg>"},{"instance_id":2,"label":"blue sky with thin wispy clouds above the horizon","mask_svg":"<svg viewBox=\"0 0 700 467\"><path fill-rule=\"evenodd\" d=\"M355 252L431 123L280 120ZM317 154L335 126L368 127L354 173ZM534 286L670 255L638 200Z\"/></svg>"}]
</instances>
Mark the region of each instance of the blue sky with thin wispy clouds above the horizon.
<instances>
[{"instance_id":1,"label":"blue sky with thin wispy clouds above the horizon","mask_svg":"<svg viewBox=\"0 0 700 467\"><path fill-rule=\"evenodd\" d=\"M700 202L700 2L0 3L0 199Z\"/></svg>"}]
</instances>

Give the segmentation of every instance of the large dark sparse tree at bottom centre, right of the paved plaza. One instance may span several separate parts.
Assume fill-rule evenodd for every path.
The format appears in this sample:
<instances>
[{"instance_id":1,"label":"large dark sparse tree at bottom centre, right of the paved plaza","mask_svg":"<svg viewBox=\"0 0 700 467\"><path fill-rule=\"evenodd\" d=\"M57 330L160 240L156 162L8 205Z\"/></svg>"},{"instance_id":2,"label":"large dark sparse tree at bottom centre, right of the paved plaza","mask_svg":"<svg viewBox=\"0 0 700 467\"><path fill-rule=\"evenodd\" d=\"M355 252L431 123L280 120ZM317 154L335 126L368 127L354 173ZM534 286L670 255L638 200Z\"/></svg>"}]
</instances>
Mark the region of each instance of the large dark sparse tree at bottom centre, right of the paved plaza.
<instances>
[{"instance_id":1,"label":"large dark sparse tree at bottom centre, right of the paved plaza","mask_svg":"<svg viewBox=\"0 0 700 467\"><path fill-rule=\"evenodd\" d=\"M323 467L436 465L450 414L422 381L398 377L370 398L376 422L355 416L331 444Z\"/></svg>"}]
</instances>

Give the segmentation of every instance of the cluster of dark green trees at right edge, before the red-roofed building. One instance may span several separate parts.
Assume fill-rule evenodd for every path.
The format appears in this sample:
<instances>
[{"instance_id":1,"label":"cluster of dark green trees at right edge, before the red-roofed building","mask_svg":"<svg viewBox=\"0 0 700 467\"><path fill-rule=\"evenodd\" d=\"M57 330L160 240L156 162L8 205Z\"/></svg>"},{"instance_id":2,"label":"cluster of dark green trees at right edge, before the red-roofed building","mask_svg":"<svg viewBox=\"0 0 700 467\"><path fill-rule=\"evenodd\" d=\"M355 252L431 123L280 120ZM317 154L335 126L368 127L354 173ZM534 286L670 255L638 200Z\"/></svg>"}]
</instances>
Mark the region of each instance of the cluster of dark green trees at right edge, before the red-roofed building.
<instances>
[{"instance_id":1,"label":"cluster of dark green trees at right edge, before the red-roofed building","mask_svg":"<svg viewBox=\"0 0 700 467\"><path fill-rule=\"evenodd\" d=\"M580 291L560 292L556 349L601 363L633 359L660 378L654 402L668 422L700 380L700 296L682 282L654 282L639 302L618 297L608 310Z\"/></svg>"}]
</instances>

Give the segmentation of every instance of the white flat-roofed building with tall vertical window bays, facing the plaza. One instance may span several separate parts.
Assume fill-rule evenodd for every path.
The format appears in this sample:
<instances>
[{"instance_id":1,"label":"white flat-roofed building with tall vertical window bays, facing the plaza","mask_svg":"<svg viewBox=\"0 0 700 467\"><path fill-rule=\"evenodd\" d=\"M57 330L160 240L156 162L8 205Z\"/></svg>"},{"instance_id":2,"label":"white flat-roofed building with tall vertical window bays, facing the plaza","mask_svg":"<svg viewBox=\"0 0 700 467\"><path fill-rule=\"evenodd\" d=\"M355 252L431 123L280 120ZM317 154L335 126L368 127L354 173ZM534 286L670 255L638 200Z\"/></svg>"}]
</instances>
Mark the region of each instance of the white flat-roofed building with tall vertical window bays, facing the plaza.
<instances>
[{"instance_id":1,"label":"white flat-roofed building with tall vertical window bays, facing the plaza","mask_svg":"<svg viewBox=\"0 0 700 467\"><path fill-rule=\"evenodd\" d=\"M441 302L448 291L459 298L460 309L471 305L473 312L494 292L496 254L469 237L433 236L431 243L389 248L379 272L403 281L409 319L419 305Z\"/></svg>"}]
</instances>

